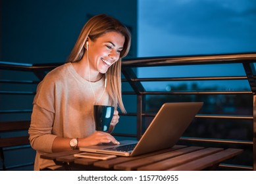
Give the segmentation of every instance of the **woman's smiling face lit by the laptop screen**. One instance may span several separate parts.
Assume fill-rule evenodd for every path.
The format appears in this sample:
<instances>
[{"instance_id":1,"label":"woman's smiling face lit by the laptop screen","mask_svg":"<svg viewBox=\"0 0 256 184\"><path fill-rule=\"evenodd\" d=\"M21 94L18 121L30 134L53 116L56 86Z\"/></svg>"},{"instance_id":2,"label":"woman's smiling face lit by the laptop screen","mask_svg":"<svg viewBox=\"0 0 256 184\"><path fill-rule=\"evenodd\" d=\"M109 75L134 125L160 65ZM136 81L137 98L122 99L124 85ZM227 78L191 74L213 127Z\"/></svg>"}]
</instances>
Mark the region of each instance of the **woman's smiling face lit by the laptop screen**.
<instances>
[{"instance_id":1,"label":"woman's smiling face lit by the laptop screen","mask_svg":"<svg viewBox=\"0 0 256 184\"><path fill-rule=\"evenodd\" d=\"M107 32L94 41L88 40L90 72L105 74L109 67L120 58L124 47L124 35L118 32Z\"/></svg>"}]
</instances>

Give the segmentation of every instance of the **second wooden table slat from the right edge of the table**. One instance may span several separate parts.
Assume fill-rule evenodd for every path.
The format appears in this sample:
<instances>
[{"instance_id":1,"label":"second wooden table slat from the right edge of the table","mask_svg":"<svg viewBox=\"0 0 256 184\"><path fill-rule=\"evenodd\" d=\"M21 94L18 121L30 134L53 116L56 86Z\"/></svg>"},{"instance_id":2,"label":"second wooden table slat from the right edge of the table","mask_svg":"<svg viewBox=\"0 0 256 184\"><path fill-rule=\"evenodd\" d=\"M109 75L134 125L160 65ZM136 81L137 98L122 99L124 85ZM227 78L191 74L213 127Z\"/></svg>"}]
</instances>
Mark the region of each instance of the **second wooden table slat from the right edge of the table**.
<instances>
[{"instance_id":1,"label":"second wooden table slat from the right edge of the table","mask_svg":"<svg viewBox=\"0 0 256 184\"><path fill-rule=\"evenodd\" d=\"M182 154L180 156L176 156L174 158L168 158L166 160L163 160L161 162L156 162L153 164L149 164L147 166L142 166L138 168L139 171L161 171L161 170L167 170L168 168L172 168L174 166L178 166L180 164L184 164L186 162L190 162L192 160L196 160L198 158L201 158L203 156L208 156L209 154L213 154L215 152L219 152L223 149L219 148L207 148L202 150L195 150L193 152L189 152L187 154Z\"/></svg>"}]
</instances>

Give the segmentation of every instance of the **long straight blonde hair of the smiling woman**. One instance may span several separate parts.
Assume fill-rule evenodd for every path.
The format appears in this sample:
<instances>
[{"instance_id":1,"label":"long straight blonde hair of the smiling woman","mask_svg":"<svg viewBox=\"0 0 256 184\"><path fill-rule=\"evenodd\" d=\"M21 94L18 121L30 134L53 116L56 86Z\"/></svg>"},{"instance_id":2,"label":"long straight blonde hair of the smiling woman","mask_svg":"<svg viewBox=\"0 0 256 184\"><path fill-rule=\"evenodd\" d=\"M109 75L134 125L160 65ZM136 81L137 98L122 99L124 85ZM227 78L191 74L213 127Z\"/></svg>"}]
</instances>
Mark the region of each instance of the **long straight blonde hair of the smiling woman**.
<instances>
[{"instance_id":1,"label":"long straight blonde hair of the smiling woman","mask_svg":"<svg viewBox=\"0 0 256 184\"><path fill-rule=\"evenodd\" d=\"M126 26L107 14L93 16L82 28L74 48L68 57L68 62L77 62L82 59L86 50L84 45L88 37L92 41L95 41L95 39L107 32L118 32L124 35L125 38L120 58L107 70L107 91L115 106L118 106L122 112L126 113L124 104L122 103L121 93L121 60L128 54L131 43L131 34Z\"/></svg>"}]
</instances>

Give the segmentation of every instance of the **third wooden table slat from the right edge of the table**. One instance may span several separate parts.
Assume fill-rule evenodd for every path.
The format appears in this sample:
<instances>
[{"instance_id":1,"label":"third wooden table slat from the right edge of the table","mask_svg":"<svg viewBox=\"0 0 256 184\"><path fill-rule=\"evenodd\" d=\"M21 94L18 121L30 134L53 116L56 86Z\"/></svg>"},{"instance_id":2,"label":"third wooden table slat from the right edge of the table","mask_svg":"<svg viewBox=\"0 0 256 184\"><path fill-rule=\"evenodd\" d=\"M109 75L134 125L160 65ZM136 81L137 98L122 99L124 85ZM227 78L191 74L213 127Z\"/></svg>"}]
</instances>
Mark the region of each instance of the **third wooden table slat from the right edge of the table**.
<instances>
[{"instance_id":1,"label":"third wooden table slat from the right edge of the table","mask_svg":"<svg viewBox=\"0 0 256 184\"><path fill-rule=\"evenodd\" d=\"M193 152L195 150L201 150L201 149L203 149L203 147L186 147L184 149L172 150L169 152L164 152L162 154L147 156L145 158L141 158L140 160L132 160L130 162L116 164L114 169L115 170L126 170L126 171L136 170L137 168L139 168L141 166L153 164L155 162L159 162L159 161L165 160L167 158L172 158L175 156L179 156L182 154L186 154L188 152Z\"/></svg>"}]
</instances>

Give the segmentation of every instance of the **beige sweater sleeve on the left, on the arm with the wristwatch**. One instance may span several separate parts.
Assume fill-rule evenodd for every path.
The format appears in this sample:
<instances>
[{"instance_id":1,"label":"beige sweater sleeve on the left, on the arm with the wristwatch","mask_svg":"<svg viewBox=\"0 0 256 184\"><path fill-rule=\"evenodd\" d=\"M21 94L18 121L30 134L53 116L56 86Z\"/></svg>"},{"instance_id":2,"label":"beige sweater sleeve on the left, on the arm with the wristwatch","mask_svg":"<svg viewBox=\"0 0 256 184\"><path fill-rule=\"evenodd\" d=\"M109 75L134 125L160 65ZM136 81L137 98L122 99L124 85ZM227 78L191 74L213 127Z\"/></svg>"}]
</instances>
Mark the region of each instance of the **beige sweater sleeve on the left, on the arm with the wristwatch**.
<instances>
[{"instance_id":1,"label":"beige sweater sleeve on the left, on the arm with the wristwatch","mask_svg":"<svg viewBox=\"0 0 256 184\"><path fill-rule=\"evenodd\" d=\"M57 135L52 134L55 117L55 89L49 80L38 85L33 102L31 124L28 129L30 145L41 152L52 152L52 145Z\"/></svg>"}]
</instances>

